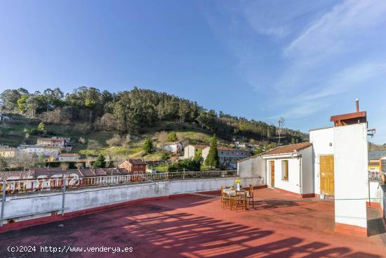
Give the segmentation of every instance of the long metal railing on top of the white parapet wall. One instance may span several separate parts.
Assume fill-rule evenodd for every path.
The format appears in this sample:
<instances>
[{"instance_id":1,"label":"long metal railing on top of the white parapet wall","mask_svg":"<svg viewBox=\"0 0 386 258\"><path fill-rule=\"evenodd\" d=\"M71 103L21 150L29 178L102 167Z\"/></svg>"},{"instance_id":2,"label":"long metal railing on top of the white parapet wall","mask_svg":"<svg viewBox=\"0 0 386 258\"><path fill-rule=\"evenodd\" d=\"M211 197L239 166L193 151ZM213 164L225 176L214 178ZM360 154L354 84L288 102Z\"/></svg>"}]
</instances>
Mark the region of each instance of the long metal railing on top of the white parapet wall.
<instances>
[{"instance_id":1,"label":"long metal railing on top of the white parapet wall","mask_svg":"<svg viewBox=\"0 0 386 258\"><path fill-rule=\"evenodd\" d=\"M51 177L39 179L13 179L0 183L0 192L23 193L31 191L54 191L63 188L82 188L91 186L109 186L124 183L143 183L146 181L221 178L237 176L237 170L204 172L163 172L154 174L128 174L116 176Z\"/></svg>"}]
</instances>

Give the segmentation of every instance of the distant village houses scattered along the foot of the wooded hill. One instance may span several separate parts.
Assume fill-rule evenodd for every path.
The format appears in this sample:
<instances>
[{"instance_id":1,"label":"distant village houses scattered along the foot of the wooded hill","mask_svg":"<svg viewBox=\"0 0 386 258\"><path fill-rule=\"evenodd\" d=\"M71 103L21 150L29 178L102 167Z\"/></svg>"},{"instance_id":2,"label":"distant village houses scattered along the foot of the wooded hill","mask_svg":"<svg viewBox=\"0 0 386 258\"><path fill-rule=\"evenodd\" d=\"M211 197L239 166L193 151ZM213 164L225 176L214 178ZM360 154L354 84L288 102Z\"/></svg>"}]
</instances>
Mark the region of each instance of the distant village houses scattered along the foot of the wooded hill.
<instances>
[{"instance_id":1,"label":"distant village houses scattered along the foot of the wooded hill","mask_svg":"<svg viewBox=\"0 0 386 258\"><path fill-rule=\"evenodd\" d=\"M168 153L168 160L164 162L173 163L181 160L194 159L194 157L201 157L201 162L204 164L206 157L208 156L210 146L205 144L188 144L187 146L183 146L180 141L173 142L165 142L163 144L158 144L155 146L157 150ZM237 162L239 160L243 160L246 157L251 155L253 150L256 150L259 146L251 146L247 143L240 143L238 141L234 141L232 147L227 146L217 146L218 150L218 160L219 165L223 169L237 169ZM262 149L264 150L264 149ZM18 155L27 155L29 157L40 157L46 162L46 166L39 168L31 168L27 169L30 172L16 172L11 176L13 178L24 178L25 176L32 176L30 173L37 173L33 176L39 176L42 172L43 174L55 174L63 173L64 170L68 170L69 173L74 172L74 167L76 167L77 171L81 173L85 173L85 171L89 171L93 174L95 167L93 167L93 162L97 160L97 157L86 157L82 158L79 153L71 153L72 151L72 140L71 138L65 137L39 137L36 139L36 144L20 144L20 146L16 148L11 148L9 146L0 146L0 157L5 158L6 160L16 159ZM108 159L108 157L107 157ZM107 160L109 161L109 160ZM160 160L140 160L140 159L125 159L114 162L114 167L110 167L108 172L105 168L99 169L98 173L102 174L126 174L124 170L128 172L128 174L145 174L146 172L152 172L152 169L149 169L147 165L161 162ZM69 168L68 163L76 164ZM50 167L50 164L51 167ZM67 165L67 166L62 166ZM75 170L76 170L75 169ZM86 169L86 170L85 170ZM120 170L117 170L120 169ZM13 169L11 169L13 170ZM20 169L18 169L20 170ZM25 170L25 169L22 169ZM29 174L28 174L29 173ZM40 174L39 174L40 173ZM90 174L86 173L86 174ZM9 173L7 173L9 175ZM67 173L65 173L67 174ZM80 174L81 176L82 174ZM9 176L6 176L7 179ZM1 177L4 177L1 176ZM5 178L3 178L5 179Z\"/></svg>"}]
</instances>

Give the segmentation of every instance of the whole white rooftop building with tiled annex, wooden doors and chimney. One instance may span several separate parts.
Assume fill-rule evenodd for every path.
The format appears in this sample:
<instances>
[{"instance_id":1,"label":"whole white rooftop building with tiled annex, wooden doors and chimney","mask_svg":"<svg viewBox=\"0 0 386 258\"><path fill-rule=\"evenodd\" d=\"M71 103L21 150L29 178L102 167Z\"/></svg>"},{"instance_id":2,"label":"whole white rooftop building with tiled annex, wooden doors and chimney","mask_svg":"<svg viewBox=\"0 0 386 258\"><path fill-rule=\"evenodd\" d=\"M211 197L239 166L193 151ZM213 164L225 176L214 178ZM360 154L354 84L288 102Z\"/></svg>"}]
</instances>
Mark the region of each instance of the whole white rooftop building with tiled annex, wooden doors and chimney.
<instances>
[{"instance_id":1,"label":"whole white rooftop building with tiled annex, wooden doors and chimney","mask_svg":"<svg viewBox=\"0 0 386 258\"><path fill-rule=\"evenodd\" d=\"M334 127L310 131L310 143L282 146L241 160L238 172L303 197L335 198L335 231L367 236L366 112L331 117Z\"/></svg>"}]
</instances>

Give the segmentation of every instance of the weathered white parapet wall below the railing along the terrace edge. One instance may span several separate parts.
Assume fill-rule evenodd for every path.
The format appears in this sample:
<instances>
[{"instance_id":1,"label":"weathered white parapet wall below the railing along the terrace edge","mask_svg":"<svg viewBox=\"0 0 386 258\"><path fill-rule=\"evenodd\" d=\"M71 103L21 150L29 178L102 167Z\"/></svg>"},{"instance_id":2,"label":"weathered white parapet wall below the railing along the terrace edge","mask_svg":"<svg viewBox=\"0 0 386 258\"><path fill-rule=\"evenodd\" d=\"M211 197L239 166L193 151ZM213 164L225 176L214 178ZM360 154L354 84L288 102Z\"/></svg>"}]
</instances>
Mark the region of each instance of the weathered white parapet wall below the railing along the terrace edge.
<instances>
[{"instance_id":1,"label":"weathered white parapet wall below the railing along the terrace edge","mask_svg":"<svg viewBox=\"0 0 386 258\"><path fill-rule=\"evenodd\" d=\"M120 202L157 198L182 193L219 191L221 186L234 185L235 177L186 179L157 181L150 183L131 183L126 185L80 188L65 192L65 212L113 205ZM258 179L241 178L243 186L260 185ZM40 191L8 195L4 205L4 221L22 221L51 215L62 211L61 191Z\"/></svg>"}]
</instances>

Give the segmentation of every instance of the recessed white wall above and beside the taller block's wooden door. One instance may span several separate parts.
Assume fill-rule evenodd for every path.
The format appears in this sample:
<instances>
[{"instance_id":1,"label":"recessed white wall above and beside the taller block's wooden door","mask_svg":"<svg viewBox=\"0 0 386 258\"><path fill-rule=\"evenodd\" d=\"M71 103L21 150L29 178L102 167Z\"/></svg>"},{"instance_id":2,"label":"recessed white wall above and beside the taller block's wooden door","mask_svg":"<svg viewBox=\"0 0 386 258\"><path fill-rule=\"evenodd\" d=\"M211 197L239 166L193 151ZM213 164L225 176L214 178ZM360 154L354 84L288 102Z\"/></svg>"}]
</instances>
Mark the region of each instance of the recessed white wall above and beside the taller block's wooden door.
<instances>
[{"instance_id":1,"label":"recessed white wall above and beside the taller block's wooden door","mask_svg":"<svg viewBox=\"0 0 386 258\"><path fill-rule=\"evenodd\" d=\"M320 160L321 155L333 155L334 153L334 130L333 127L316 129L310 131L310 142L312 143L314 166L314 193L320 194ZM330 146L331 143L331 146Z\"/></svg>"}]
</instances>

